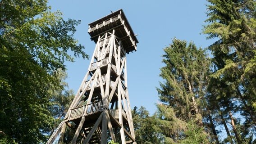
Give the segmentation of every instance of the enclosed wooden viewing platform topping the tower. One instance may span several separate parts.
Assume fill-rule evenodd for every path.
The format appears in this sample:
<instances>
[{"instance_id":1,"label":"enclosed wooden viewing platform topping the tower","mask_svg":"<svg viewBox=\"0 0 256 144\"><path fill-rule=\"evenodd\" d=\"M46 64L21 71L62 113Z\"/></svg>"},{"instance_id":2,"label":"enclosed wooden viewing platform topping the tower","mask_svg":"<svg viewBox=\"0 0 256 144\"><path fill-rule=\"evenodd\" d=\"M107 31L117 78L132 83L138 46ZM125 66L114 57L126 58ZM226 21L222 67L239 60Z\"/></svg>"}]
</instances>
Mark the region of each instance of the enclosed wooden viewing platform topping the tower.
<instances>
[{"instance_id":1,"label":"enclosed wooden viewing platform topping the tower","mask_svg":"<svg viewBox=\"0 0 256 144\"><path fill-rule=\"evenodd\" d=\"M88 33L91 40L96 43L98 36L102 36L105 32L112 32L122 41L123 48L127 53L137 50L137 37L135 36L132 27L130 26L123 9L119 9L111 14L100 18L92 23L89 23Z\"/></svg>"}]
</instances>

